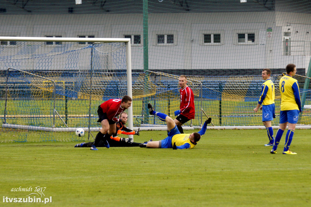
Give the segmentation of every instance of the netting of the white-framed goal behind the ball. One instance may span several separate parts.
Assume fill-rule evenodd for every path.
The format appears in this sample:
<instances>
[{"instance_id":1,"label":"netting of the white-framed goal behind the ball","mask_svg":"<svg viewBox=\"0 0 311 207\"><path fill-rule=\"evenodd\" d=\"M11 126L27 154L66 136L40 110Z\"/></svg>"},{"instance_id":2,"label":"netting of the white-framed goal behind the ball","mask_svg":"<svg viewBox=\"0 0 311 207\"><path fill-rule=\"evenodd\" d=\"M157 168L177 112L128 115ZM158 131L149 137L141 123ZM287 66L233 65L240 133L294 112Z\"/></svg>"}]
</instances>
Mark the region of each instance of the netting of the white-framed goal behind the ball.
<instances>
[{"instance_id":1,"label":"netting of the white-framed goal behind the ball","mask_svg":"<svg viewBox=\"0 0 311 207\"><path fill-rule=\"evenodd\" d=\"M8 68L2 117L9 128L2 133L13 140L53 140L51 128L99 127L98 106L127 94L124 43L16 44L0 47L0 64ZM73 132L62 137L79 139Z\"/></svg>"}]
</instances>

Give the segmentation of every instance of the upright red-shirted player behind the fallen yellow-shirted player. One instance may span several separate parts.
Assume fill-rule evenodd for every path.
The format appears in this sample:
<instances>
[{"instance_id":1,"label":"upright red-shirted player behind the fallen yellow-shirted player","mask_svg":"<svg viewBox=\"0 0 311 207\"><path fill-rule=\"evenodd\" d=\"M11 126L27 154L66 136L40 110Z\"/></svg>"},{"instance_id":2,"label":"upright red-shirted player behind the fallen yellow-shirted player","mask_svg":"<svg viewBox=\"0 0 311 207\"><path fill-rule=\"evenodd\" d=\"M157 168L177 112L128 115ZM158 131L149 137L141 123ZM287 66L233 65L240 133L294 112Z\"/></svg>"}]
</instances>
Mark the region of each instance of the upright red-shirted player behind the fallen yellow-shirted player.
<instances>
[{"instance_id":1,"label":"upright red-shirted player behind the fallen yellow-shirted player","mask_svg":"<svg viewBox=\"0 0 311 207\"><path fill-rule=\"evenodd\" d=\"M181 134L183 134L183 128L181 127L184 123L188 122L190 119L194 119L194 95L187 86L187 77L184 75L179 76L179 86L180 89L180 109L175 111L174 119L175 124Z\"/></svg>"}]
</instances>

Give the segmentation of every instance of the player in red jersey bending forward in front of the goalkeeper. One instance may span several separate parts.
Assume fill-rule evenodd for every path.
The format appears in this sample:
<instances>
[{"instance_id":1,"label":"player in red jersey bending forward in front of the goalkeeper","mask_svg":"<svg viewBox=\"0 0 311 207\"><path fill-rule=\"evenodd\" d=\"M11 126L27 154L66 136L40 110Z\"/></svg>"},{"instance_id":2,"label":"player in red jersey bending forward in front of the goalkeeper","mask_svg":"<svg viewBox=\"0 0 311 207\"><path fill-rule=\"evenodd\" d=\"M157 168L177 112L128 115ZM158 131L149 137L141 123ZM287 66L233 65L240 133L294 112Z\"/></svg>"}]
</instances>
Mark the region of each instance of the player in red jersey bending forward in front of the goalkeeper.
<instances>
[{"instance_id":1,"label":"player in red jersey bending forward in front of the goalkeeper","mask_svg":"<svg viewBox=\"0 0 311 207\"><path fill-rule=\"evenodd\" d=\"M105 147L109 148L107 139L116 132L116 122L119 120L117 117L125 109L128 109L132 104L132 98L125 95L121 99L109 99L102 103L97 110L98 121L101 123L101 129L95 137L94 145L91 150L98 150L96 147L100 141L103 141Z\"/></svg>"}]
</instances>

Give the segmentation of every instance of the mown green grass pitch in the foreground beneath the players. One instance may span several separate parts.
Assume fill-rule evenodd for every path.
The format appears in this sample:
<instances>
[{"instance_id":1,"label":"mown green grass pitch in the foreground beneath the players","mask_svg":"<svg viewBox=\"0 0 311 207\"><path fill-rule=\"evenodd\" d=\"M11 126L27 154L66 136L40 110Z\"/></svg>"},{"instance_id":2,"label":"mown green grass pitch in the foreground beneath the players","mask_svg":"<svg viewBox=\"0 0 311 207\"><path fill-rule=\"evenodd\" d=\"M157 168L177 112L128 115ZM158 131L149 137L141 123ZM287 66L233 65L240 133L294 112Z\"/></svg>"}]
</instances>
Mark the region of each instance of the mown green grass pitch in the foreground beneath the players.
<instances>
[{"instance_id":1,"label":"mown green grass pitch in the foreground beneath the players","mask_svg":"<svg viewBox=\"0 0 311 207\"><path fill-rule=\"evenodd\" d=\"M295 131L297 155L282 154L285 134L277 154L263 146L266 130L207 130L192 150L2 143L0 192L26 198L11 189L45 187L50 206L309 206L310 130ZM134 140L165 137L142 131Z\"/></svg>"}]
</instances>

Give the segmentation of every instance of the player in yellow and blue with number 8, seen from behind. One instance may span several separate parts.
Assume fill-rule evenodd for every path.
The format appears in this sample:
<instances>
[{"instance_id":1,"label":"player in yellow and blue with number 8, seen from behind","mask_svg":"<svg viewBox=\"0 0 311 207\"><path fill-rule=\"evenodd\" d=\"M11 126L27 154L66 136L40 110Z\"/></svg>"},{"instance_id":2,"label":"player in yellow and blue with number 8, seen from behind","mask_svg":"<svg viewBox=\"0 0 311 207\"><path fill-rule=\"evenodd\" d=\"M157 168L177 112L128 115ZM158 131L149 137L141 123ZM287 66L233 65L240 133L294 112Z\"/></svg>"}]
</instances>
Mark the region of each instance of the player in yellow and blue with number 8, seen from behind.
<instances>
[{"instance_id":1,"label":"player in yellow and blue with number 8, seen from behind","mask_svg":"<svg viewBox=\"0 0 311 207\"><path fill-rule=\"evenodd\" d=\"M290 143L294 136L296 123L298 122L299 112L301 112L301 101L299 94L298 81L292 76L296 74L296 66L288 64L286 66L286 75L280 79L281 92L281 111L280 111L280 127L276 132L271 154L276 154L277 146L280 143L283 132L288 124L288 130L285 138L283 154L297 154L289 150Z\"/></svg>"}]
</instances>

